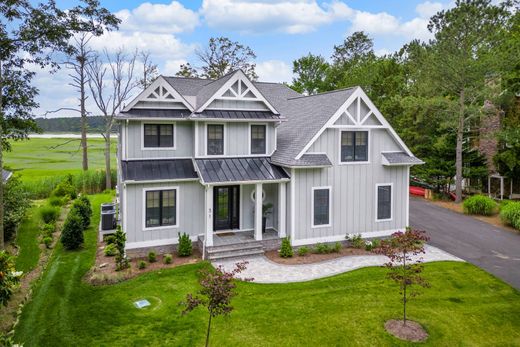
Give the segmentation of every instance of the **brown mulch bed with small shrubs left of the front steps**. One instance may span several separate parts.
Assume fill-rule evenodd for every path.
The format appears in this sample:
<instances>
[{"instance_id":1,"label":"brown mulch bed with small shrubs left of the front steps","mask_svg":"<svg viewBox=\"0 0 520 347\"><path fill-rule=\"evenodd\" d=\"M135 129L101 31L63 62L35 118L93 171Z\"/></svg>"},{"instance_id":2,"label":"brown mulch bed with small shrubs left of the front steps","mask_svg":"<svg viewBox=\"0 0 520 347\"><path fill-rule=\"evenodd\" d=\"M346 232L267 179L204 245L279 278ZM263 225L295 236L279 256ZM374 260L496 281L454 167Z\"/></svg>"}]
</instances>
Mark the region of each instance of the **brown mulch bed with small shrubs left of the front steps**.
<instances>
[{"instance_id":1,"label":"brown mulch bed with small shrubs left of the front steps","mask_svg":"<svg viewBox=\"0 0 520 347\"><path fill-rule=\"evenodd\" d=\"M193 250L193 254L189 257L179 257L177 253L173 253L171 264L164 264L164 255L158 254L157 261L154 263L148 262L148 257L132 258L130 259L129 269L116 271L116 259L115 257L105 256L103 251L105 246L105 242L98 243L95 266L86 275L86 281L93 285L118 283L146 272L171 269L184 264L195 264L202 259L200 252L196 249ZM137 267L141 260L146 263L146 268L144 269Z\"/></svg>"}]
</instances>

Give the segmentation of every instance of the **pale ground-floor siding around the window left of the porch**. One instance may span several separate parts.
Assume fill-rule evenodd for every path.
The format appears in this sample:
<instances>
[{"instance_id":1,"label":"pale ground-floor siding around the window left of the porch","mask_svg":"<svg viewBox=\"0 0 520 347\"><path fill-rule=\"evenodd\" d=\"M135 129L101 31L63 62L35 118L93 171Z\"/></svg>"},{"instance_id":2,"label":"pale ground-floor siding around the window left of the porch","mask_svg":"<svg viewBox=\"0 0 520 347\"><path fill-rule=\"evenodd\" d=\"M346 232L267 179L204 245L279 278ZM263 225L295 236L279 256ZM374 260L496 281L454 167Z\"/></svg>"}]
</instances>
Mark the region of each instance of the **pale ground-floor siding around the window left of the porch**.
<instances>
[{"instance_id":1,"label":"pale ground-floor siding around the window left of the porch","mask_svg":"<svg viewBox=\"0 0 520 347\"><path fill-rule=\"evenodd\" d=\"M160 229L144 230L144 189L178 187L177 204L179 206L177 215L177 227L165 227ZM166 188L167 189L167 188ZM199 182L170 182L154 184L127 184L124 193L126 195L126 242L128 244L175 240L177 233L187 233L197 236L204 233L204 186Z\"/></svg>"}]
</instances>

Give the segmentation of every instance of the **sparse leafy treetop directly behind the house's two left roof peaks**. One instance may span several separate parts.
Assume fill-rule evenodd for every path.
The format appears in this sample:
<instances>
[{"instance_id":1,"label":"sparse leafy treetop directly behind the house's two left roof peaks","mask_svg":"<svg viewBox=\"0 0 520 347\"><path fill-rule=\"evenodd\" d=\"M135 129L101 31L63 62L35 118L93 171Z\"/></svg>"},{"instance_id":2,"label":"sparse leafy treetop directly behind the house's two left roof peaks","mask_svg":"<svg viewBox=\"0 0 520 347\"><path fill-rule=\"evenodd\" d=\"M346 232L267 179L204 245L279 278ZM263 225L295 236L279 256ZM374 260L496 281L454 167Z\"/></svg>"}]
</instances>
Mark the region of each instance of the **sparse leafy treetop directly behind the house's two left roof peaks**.
<instances>
[{"instance_id":1,"label":"sparse leafy treetop directly behind the house's two left roof peaks","mask_svg":"<svg viewBox=\"0 0 520 347\"><path fill-rule=\"evenodd\" d=\"M231 71L241 69L252 80L256 80L256 54L240 42L233 42L227 37L212 37L208 46L195 52L202 63L199 75L217 79Z\"/></svg>"}]
</instances>

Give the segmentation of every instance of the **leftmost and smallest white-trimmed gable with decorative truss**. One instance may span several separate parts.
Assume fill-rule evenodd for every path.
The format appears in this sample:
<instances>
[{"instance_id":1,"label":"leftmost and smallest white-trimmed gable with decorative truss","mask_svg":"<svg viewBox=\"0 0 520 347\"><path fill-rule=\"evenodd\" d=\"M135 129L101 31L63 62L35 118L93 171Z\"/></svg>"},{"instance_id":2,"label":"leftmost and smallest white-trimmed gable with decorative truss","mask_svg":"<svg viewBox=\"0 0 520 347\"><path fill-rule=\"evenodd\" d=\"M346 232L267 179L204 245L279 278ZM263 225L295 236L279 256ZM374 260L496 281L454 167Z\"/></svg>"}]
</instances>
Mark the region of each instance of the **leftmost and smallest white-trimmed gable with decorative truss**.
<instances>
[{"instance_id":1,"label":"leftmost and smallest white-trimmed gable with decorative truss","mask_svg":"<svg viewBox=\"0 0 520 347\"><path fill-rule=\"evenodd\" d=\"M143 90L124 111L131 108L187 108L193 110L183 98L162 76L159 76L145 90Z\"/></svg>"}]
</instances>

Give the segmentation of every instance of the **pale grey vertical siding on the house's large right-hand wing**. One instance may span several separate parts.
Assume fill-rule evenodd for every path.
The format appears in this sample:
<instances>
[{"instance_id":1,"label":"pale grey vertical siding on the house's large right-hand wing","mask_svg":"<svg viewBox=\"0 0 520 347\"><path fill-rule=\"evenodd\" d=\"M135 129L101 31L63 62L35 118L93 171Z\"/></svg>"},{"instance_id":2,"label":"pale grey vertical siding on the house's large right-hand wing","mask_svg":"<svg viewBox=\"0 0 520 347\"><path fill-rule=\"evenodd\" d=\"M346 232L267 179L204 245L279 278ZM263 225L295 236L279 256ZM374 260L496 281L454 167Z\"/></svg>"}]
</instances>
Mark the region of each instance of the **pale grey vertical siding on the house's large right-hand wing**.
<instances>
[{"instance_id":1,"label":"pale grey vertical siding on the house's large right-hand wing","mask_svg":"<svg viewBox=\"0 0 520 347\"><path fill-rule=\"evenodd\" d=\"M371 129L368 164L339 165L340 130L327 129L309 153L327 153L333 167L295 170L295 240L345 236L406 227L407 168L387 167L381 152L399 151L384 129ZM376 221L376 184L391 183L392 220ZM331 226L312 227L312 188L330 186Z\"/></svg>"}]
</instances>

